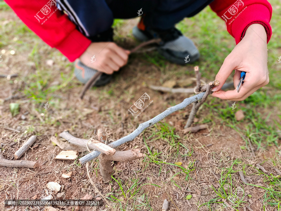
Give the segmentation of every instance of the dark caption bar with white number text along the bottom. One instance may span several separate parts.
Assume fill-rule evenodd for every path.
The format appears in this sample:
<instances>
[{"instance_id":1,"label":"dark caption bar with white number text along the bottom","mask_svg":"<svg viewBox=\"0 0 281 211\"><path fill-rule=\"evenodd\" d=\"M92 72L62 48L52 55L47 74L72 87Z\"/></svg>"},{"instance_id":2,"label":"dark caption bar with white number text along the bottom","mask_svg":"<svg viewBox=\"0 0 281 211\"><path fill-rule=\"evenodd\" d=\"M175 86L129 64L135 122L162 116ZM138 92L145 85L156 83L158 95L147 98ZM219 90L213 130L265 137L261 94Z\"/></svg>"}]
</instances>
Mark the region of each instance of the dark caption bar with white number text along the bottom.
<instances>
[{"instance_id":1,"label":"dark caption bar with white number text along the bottom","mask_svg":"<svg viewBox=\"0 0 281 211\"><path fill-rule=\"evenodd\" d=\"M65 206L65 207L99 207L102 205L101 200L88 199L88 200L76 200L76 199L65 199L65 200L56 200L56 199L7 199L4 200L5 207L18 206L18 207L26 207L26 206Z\"/></svg>"}]
</instances>

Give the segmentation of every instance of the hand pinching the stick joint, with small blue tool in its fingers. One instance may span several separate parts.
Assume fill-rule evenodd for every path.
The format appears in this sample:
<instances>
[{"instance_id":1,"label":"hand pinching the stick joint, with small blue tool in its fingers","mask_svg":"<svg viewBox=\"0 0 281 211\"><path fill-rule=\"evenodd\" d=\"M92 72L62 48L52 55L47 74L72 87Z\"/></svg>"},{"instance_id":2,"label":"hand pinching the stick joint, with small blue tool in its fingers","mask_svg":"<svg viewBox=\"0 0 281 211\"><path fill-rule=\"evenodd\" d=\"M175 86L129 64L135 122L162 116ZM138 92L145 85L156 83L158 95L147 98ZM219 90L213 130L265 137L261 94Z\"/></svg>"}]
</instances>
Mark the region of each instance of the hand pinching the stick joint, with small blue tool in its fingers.
<instances>
[{"instance_id":1,"label":"hand pinching the stick joint, with small blue tool in its fingers","mask_svg":"<svg viewBox=\"0 0 281 211\"><path fill-rule=\"evenodd\" d=\"M235 89L227 92L219 90L234 69L233 82ZM239 83L241 71L246 72L246 77L238 93L236 86ZM219 91L212 95L227 100L244 100L269 83L267 35L262 25L252 24L249 26L244 38L225 58L216 75L216 80L219 81L219 86L213 88L212 91Z\"/></svg>"}]
</instances>

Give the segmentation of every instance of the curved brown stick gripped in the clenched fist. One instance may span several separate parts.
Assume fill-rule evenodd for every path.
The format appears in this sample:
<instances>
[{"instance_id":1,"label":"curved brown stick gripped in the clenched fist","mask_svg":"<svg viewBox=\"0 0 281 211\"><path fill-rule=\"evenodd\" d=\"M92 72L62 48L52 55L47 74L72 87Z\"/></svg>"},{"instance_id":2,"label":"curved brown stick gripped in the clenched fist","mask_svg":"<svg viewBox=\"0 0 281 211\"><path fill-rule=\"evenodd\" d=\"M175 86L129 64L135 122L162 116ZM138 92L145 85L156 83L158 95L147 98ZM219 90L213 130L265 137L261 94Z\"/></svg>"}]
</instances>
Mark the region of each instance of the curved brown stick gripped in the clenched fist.
<instances>
[{"instance_id":1,"label":"curved brown stick gripped in the clenched fist","mask_svg":"<svg viewBox=\"0 0 281 211\"><path fill-rule=\"evenodd\" d=\"M159 39L152 39L152 40L143 42L140 45L138 45L136 48L133 48L131 50L131 53L135 53L139 48L142 48L146 45L150 45L152 43L160 43L160 42L161 42L160 38ZM96 81L101 77L101 74L102 74L101 72L97 72L95 75L93 75L92 78L90 78L90 80L85 84L81 94L79 95L79 98L83 99L86 91L96 83Z\"/></svg>"}]
</instances>

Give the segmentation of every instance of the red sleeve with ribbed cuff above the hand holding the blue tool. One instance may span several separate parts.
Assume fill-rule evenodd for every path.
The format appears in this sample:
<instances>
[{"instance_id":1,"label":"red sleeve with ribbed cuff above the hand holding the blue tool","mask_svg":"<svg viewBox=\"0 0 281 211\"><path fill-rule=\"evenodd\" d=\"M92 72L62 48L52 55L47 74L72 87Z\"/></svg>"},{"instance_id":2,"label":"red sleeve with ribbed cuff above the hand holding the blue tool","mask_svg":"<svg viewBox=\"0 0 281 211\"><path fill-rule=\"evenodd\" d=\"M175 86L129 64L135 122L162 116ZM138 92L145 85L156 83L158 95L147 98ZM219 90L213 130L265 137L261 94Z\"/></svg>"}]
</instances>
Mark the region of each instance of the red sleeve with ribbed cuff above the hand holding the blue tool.
<instances>
[{"instance_id":1,"label":"red sleeve with ribbed cuff above the hand holding the blue tool","mask_svg":"<svg viewBox=\"0 0 281 211\"><path fill-rule=\"evenodd\" d=\"M254 23L264 26L269 42L272 31L269 25L272 7L266 0L215 0L211 9L221 17L227 26L227 31L238 44L244 37L247 28Z\"/></svg>"}]
</instances>

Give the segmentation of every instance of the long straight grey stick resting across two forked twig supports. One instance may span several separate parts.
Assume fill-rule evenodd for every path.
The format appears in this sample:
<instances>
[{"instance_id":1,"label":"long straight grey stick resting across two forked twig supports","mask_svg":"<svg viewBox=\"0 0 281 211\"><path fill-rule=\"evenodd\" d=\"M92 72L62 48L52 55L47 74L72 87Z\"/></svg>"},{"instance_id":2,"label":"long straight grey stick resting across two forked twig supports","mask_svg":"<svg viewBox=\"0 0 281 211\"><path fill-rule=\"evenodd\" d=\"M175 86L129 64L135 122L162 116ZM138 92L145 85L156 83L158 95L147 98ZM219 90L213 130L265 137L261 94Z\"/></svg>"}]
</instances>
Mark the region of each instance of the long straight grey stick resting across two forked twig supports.
<instances>
[{"instance_id":1,"label":"long straight grey stick resting across two forked twig supports","mask_svg":"<svg viewBox=\"0 0 281 211\"><path fill-rule=\"evenodd\" d=\"M134 130L132 133L130 133L129 135L123 137L123 138L120 138L118 139L117 141L114 141L110 144L108 144L108 146L112 147L112 148L116 148L118 146L120 146L121 144L123 143L126 143L128 141L131 141L133 140L134 138L136 138L139 134L141 134L141 132L144 131L145 128L148 128L152 125L154 125L155 123L159 122L160 120L164 119L165 117L167 117L168 115L170 115L171 113L177 111L177 110L180 110L180 109L183 109L185 108L186 106L188 106L189 104L191 103L194 103L200 99L203 98L205 92L202 92L202 93L199 93L195 96L192 96L190 98L185 98L183 102L175 105L175 106L172 106L170 108L168 108L167 110L165 110L164 112L158 114L156 117L144 122L144 123L141 123L139 125L138 128L136 128L136 130ZM98 151L93 151L85 156L83 156L82 158L79 159L80 163L81 164L85 164L87 163L88 161L98 157L100 155L100 152Z\"/></svg>"}]
</instances>

